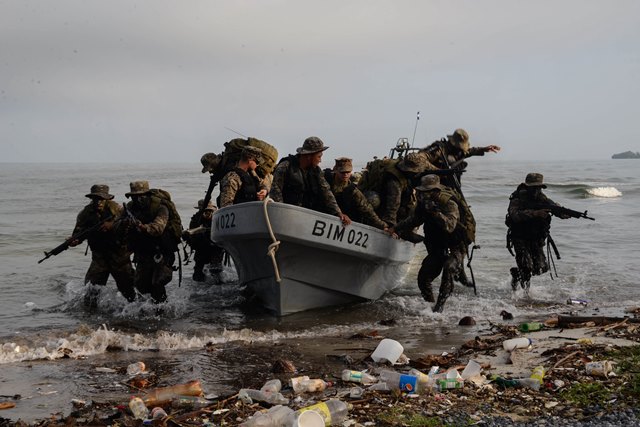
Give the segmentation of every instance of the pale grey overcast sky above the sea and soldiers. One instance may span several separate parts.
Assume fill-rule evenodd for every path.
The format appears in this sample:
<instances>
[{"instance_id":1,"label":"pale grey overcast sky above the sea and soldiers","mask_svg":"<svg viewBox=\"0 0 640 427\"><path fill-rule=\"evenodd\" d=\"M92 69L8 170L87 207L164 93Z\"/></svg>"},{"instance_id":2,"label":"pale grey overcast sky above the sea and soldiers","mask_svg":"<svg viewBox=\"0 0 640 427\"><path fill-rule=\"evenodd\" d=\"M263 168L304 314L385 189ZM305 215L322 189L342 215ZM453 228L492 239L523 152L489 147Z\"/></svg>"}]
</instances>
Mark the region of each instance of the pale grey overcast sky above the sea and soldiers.
<instances>
[{"instance_id":1,"label":"pale grey overcast sky above the sea and soldiers","mask_svg":"<svg viewBox=\"0 0 640 427\"><path fill-rule=\"evenodd\" d=\"M331 159L466 129L503 159L640 151L640 2L0 0L0 161Z\"/></svg>"}]
</instances>

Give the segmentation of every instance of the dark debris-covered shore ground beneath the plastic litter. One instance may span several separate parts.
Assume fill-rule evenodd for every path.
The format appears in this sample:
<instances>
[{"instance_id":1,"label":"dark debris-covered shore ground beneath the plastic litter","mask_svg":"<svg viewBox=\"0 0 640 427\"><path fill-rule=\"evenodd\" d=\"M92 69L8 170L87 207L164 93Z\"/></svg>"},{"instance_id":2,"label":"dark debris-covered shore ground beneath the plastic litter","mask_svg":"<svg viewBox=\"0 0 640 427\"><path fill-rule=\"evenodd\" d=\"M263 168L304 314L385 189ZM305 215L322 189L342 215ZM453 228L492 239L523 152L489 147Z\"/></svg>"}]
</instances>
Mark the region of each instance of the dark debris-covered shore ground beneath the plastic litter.
<instances>
[{"instance_id":1,"label":"dark debris-covered shore ground beneath the plastic litter","mask_svg":"<svg viewBox=\"0 0 640 427\"><path fill-rule=\"evenodd\" d=\"M546 321L547 325L554 324L552 319L541 320ZM404 353L410 359L409 365L391 367L391 369L395 369L398 372L406 372L410 366L413 366L423 372L427 372L430 366L440 366L441 369L462 368L472 359L483 366L485 377L499 375L504 378L521 378L530 376L535 366L543 365L547 373L545 386L539 391L522 388L502 389L497 387L495 382L483 380L478 381L478 385L466 381L464 387L458 390L443 390L441 392L429 390L419 396L365 391L362 398L358 400L349 399L348 392L350 388L357 386L357 384L342 382L339 379L340 372L343 369L368 369L369 372L377 376L381 369L388 369L389 366L376 364L369 356L381 338L394 339L394 336L389 334L393 333L393 329L382 332L374 330L363 331L349 337L337 336L321 340L306 338L302 340L280 340L277 343L227 343L221 346L211 346L202 351L215 354L217 360L225 363L234 360L236 366L244 365L244 370L238 372L235 377L228 378L228 381L225 382L226 387L222 387L222 393L216 400L212 401L208 412L198 411L199 415L194 419L199 421L195 425L208 425L205 419L212 421L214 425L221 425L220 421L224 422L223 425L237 425L254 412L266 410L271 406L257 402L252 405L240 403L234 397L240 388L259 389L262 384L273 378L280 379L282 384L285 385L291 377L299 375L323 378L335 382L335 385L327 388L322 393L304 394L302 399L296 400L294 400L295 396L292 390L287 389L285 386L283 394L291 398L290 407L297 409L312 402L339 397L346 402L351 402L354 406L349 412L350 419L354 421L353 425L406 425L394 424L394 421L391 420L393 417L387 420L385 417L389 412L395 414L398 420L407 417L426 417L440 420L442 423L451 423L453 421L456 424L462 422L464 418L465 422L475 420L474 422L486 424L488 422L485 419L487 415L480 411L482 408L490 409L489 413L492 414L490 418L495 418L499 424L504 424L505 422L526 423L541 416L559 417L559 419L571 419L581 422L589 418L589 414L585 415L585 411L593 412L595 409L590 409L589 404L581 405L568 401L565 393L568 393L567 391L574 387L578 389L585 384L619 387L620 384L618 383L624 378L623 376L593 377L586 375L584 373L585 360L588 361L589 358L594 360L607 358L611 350L618 348L637 351L640 357L640 324L630 323L629 320L626 320L602 326L598 326L595 323L576 326L579 327L567 327L567 325L559 327L555 323L555 326L547 326L542 331L523 334L517 331L517 325L489 322L488 329L477 328L480 329L477 331L478 336L459 343L456 345L455 350L450 349L451 351L446 352L441 350L424 352L421 350L423 347L421 347L419 340L407 340L405 343L401 342L401 344L405 346ZM457 338L462 338L463 336L464 334L457 336ZM530 349L515 350L511 353L506 352L502 348L502 341L514 336L531 338L533 345ZM198 357L202 351L186 355L185 360L190 357ZM297 372L273 372L279 362L289 362L295 366ZM285 364L284 366L287 365ZM162 369L161 366L155 367L156 371L162 371ZM631 381L633 383L633 381L637 380L640 385L640 379L637 378L638 374L635 375L636 377L631 380L627 379L627 382ZM171 385L165 384L166 380L161 380L161 382L162 384L156 385ZM126 392L123 390L122 396L134 394L136 391L134 388L126 390ZM48 425L54 421L56 423L63 422L62 420L65 419L68 422L69 417L77 425L89 425L96 420L102 420L103 423L106 422L105 420L109 420L109 423L120 419L123 421L132 420L128 409L123 409L126 408L127 401L122 396L113 396L105 393L104 396L98 396L93 399L86 407L78 406L72 411L66 411L67 413L57 411L58 414L52 418L33 420L33 422L27 424ZM635 407L638 407L637 399L636 397ZM376 403L374 405L373 403L375 402L385 403ZM532 402L536 404L534 405ZM542 402L541 405L539 404L540 402ZM19 401L16 401L16 403L19 403ZM618 397L611 404L603 404L601 402L596 406L598 407L595 414L600 413L601 416L609 416L609 414L615 413L625 414L626 417L632 416L631 413L628 413L628 409L633 408L633 406L629 404L627 397L624 399ZM182 411L182 413L176 412L172 414L170 407L166 409L176 419L189 413L188 411ZM0 417L10 417L11 412L11 410L0 411ZM218 412L217 415L216 412ZM373 416L372 414L377 415ZM633 413L633 417L636 417L636 419L637 415L637 413ZM220 419L218 420L216 417ZM593 415L590 415L590 417L592 418ZM375 422L372 420L376 419L384 419L386 421L367 424ZM627 421L629 420L632 419L629 418ZM158 423L158 421L155 423ZM25 424L14 418L0 418L0 425ZM172 422L166 421L156 425L179 424L172 424Z\"/></svg>"}]
</instances>

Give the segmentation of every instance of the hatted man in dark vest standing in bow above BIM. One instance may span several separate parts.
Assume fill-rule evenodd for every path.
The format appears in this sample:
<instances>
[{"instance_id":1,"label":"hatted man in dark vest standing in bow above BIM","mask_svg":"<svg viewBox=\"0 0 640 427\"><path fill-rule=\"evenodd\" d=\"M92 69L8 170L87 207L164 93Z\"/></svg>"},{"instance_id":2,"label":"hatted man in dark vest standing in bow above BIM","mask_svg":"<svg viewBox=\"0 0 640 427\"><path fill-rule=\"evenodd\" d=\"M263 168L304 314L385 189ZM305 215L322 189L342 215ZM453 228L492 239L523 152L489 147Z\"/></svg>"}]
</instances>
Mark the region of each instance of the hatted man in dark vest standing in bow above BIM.
<instances>
[{"instance_id":1,"label":"hatted man in dark vest standing in bow above BIM","mask_svg":"<svg viewBox=\"0 0 640 427\"><path fill-rule=\"evenodd\" d=\"M343 225L349 225L351 220L340 210L318 166L328 148L318 137L305 139L302 147L296 149L297 154L282 159L276 167L270 197L276 202L335 215Z\"/></svg>"}]
</instances>

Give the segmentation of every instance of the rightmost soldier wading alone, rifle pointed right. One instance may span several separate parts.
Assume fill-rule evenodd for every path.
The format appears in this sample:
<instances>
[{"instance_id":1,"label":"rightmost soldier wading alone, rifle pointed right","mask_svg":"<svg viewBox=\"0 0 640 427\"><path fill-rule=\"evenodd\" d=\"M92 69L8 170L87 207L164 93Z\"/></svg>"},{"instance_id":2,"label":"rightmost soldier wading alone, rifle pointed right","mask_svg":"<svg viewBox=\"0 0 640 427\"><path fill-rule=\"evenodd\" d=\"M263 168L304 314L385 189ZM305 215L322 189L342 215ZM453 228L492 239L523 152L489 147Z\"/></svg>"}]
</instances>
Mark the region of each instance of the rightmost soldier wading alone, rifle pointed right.
<instances>
[{"instance_id":1,"label":"rightmost soldier wading alone, rifle pointed right","mask_svg":"<svg viewBox=\"0 0 640 427\"><path fill-rule=\"evenodd\" d=\"M515 249L517 267L511 268L511 287L515 291L518 283L526 292L529 291L531 276L538 276L549 271L549 264L544 254L547 240L553 244L549 231L551 214L549 209L540 206L560 206L542 193L547 188L539 173L527 174L525 181L509 197L509 210L505 223L507 232L507 248ZM568 215L559 214L562 219Z\"/></svg>"}]
</instances>

